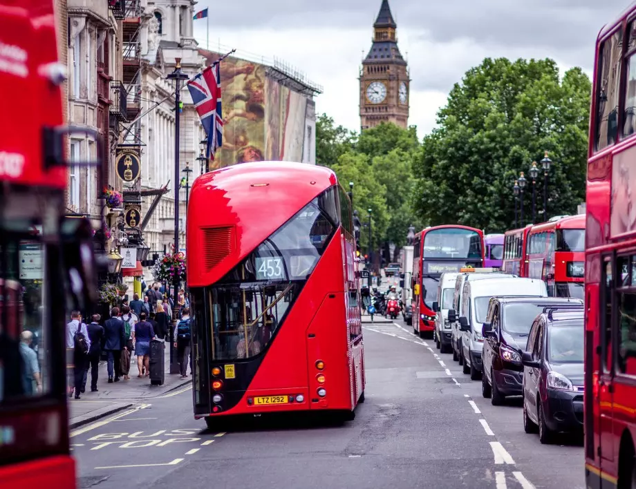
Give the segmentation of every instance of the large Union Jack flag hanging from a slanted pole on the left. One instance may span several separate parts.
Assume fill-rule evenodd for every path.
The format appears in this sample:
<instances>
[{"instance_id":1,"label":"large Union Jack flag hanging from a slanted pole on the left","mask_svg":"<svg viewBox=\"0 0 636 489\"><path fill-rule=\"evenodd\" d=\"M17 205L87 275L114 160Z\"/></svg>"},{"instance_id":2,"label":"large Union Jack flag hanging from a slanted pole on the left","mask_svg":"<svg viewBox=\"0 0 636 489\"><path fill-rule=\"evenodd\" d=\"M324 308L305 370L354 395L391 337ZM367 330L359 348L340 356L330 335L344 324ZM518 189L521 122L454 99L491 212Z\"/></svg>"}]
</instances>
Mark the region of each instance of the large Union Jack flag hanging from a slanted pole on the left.
<instances>
[{"instance_id":1,"label":"large Union Jack flag hanging from a slanted pole on the left","mask_svg":"<svg viewBox=\"0 0 636 489\"><path fill-rule=\"evenodd\" d=\"M207 135L206 157L223 146L223 111L221 108L221 69L216 63L188 81L194 108Z\"/></svg>"}]
</instances>

